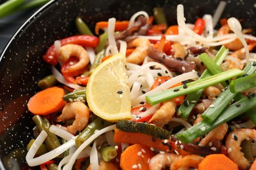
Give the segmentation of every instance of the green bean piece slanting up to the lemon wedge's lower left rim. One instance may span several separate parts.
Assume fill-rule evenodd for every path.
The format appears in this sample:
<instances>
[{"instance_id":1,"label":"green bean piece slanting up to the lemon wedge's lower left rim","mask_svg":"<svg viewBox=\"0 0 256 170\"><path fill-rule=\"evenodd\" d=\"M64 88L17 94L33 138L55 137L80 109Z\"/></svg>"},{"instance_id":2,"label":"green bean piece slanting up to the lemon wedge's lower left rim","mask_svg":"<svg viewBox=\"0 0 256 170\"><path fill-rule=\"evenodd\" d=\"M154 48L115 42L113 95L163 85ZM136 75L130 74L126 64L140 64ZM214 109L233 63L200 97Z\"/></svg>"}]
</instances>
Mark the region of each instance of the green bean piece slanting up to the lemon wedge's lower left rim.
<instances>
[{"instance_id":1,"label":"green bean piece slanting up to the lemon wedge's lower left rim","mask_svg":"<svg viewBox=\"0 0 256 170\"><path fill-rule=\"evenodd\" d=\"M95 120L93 120L93 122L91 122L91 124L85 127L85 129L83 129L83 131L75 139L76 146L81 146L81 144L83 144L89 137L91 137L91 135L95 133L95 131L110 126L111 124L111 122L107 122L100 117L96 118Z\"/></svg>"}]
</instances>

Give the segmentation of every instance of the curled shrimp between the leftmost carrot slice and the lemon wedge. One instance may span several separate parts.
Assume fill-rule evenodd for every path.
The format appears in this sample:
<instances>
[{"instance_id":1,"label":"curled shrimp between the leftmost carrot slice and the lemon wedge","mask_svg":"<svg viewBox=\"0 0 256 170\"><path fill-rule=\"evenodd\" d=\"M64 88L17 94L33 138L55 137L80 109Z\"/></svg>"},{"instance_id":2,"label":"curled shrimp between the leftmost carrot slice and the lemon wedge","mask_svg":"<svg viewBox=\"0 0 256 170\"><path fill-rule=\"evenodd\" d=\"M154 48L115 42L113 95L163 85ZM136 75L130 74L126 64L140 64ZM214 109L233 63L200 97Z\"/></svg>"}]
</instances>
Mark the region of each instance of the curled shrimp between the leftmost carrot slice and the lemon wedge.
<instances>
[{"instance_id":1,"label":"curled shrimp between the leftmost carrot slice and the lemon wedge","mask_svg":"<svg viewBox=\"0 0 256 170\"><path fill-rule=\"evenodd\" d=\"M62 114L56 118L56 121L62 122L74 117L75 121L71 126L67 127L67 131L75 135L77 131L83 130L88 124L89 108L84 103L75 101L66 104Z\"/></svg>"}]
</instances>

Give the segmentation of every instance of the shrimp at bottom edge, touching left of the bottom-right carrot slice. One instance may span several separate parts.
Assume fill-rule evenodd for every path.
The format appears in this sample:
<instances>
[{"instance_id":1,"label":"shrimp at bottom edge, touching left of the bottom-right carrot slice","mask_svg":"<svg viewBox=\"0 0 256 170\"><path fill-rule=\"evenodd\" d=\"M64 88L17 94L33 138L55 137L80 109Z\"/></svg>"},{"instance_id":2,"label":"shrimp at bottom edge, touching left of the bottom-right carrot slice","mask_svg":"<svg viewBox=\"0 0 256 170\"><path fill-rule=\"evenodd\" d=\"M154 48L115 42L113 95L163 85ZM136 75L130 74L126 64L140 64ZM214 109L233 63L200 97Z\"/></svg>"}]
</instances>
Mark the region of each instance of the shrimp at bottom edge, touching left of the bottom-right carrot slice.
<instances>
[{"instance_id":1,"label":"shrimp at bottom edge, touching left of the bottom-right carrot slice","mask_svg":"<svg viewBox=\"0 0 256 170\"><path fill-rule=\"evenodd\" d=\"M198 164L203 160L202 156L198 156L195 154L183 156L181 159L176 160L171 164L170 170L177 170L180 168L188 168L194 167L198 169Z\"/></svg>"}]
</instances>

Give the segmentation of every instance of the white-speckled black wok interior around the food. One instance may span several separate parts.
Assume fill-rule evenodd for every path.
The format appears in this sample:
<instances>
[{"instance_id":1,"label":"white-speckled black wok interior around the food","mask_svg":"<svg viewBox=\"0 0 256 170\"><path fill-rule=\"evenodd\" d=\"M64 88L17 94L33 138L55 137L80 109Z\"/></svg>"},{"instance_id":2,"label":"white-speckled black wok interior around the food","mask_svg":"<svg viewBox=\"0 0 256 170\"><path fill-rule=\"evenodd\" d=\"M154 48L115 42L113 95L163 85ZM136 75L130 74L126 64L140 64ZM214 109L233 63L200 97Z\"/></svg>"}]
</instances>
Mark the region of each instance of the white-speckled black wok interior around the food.
<instances>
[{"instance_id":1,"label":"white-speckled black wok interior around the food","mask_svg":"<svg viewBox=\"0 0 256 170\"><path fill-rule=\"evenodd\" d=\"M51 69L42 56L54 40L77 33L74 18L83 17L93 28L95 22L115 17L129 20L132 14L164 7L170 24L176 24L176 8L184 5L186 22L193 23L203 14L213 14L219 1L148 1L148 0L57 0L38 11L14 35L1 54L0 61L0 169L26 167L26 144L34 126L26 103L37 91L37 82ZM222 17L244 19L244 27L256 28L254 1L227 1ZM28 167L26 167L27 169Z\"/></svg>"}]
</instances>

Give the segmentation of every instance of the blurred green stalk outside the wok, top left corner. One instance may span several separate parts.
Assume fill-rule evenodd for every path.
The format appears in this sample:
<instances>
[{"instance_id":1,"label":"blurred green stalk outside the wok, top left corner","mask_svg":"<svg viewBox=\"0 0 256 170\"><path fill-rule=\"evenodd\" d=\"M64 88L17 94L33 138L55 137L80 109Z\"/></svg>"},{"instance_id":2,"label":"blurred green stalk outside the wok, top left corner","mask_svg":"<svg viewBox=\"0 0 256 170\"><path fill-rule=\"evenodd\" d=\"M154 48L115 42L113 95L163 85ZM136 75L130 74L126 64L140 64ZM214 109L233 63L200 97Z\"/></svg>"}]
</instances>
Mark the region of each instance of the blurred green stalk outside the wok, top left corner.
<instances>
[{"instance_id":1,"label":"blurred green stalk outside the wok, top left corner","mask_svg":"<svg viewBox=\"0 0 256 170\"><path fill-rule=\"evenodd\" d=\"M24 0L9 0L0 5L0 18L11 14L14 9L24 3Z\"/></svg>"}]
</instances>

